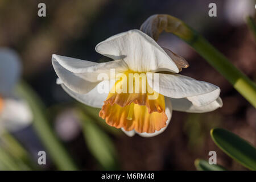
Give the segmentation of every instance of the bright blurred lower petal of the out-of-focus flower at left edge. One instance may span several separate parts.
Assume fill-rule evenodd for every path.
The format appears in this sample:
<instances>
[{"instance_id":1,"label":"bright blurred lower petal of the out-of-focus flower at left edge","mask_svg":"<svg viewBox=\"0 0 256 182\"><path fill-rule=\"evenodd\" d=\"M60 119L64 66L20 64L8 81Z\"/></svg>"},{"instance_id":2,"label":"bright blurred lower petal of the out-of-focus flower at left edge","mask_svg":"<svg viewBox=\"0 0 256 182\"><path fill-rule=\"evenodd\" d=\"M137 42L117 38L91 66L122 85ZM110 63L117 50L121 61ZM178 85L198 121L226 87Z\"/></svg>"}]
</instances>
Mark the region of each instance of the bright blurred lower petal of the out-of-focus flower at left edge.
<instances>
[{"instance_id":1,"label":"bright blurred lower petal of the out-of-focus flower at left edge","mask_svg":"<svg viewBox=\"0 0 256 182\"><path fill-rule=\"evenodd\" d=\"M6 98L0 114L0 125L10 131L17 131L30 125L32 112L27 102L20 98Z\"/></svg>"}]
</instances>

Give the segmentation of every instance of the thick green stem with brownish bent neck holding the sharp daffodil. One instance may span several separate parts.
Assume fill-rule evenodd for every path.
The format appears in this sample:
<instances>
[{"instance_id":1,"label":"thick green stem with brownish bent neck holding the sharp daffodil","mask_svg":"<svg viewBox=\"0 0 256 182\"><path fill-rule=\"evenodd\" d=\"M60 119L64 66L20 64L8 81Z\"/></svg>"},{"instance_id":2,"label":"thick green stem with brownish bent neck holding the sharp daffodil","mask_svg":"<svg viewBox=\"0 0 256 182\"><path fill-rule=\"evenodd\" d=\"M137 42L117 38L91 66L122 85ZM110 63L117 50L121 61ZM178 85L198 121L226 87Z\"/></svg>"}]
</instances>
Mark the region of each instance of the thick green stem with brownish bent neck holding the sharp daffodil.
<instances>
[{"instance_id":1,"label":"thick green stem with brownish bent neck holding the sharp daffodil","mask_svg":"<svg viewBox=\"0 0 256 182\"><path fill-rule=\"evenodd\" d=\"M150 16L141 26L141 30L155 40L162 31L170 32L193 47L222 76L241 93L247 101L256 107L256 85L246 75L239 71L230 61L214 48L199 33L173 16L159 14Z\"/></svg>"}]
</instances>

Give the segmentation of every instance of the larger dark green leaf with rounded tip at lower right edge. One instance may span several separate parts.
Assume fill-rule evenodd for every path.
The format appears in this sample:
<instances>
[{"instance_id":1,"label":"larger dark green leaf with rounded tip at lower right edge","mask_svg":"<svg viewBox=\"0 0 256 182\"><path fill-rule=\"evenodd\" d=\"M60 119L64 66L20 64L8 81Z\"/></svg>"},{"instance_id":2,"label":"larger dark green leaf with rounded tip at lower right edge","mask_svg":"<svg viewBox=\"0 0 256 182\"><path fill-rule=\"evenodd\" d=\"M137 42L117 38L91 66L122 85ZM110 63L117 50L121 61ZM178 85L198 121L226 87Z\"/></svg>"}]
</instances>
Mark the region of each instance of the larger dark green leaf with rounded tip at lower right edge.
<instances>
[{"instance_id":1,"label":"larger dark green leaf with rounded tip at lower right edge","mask_svg":"<svg viewBox=\"0 0 256 182\"><path fill-rule=\"evenodd\" d=\"M251 144L224 129L212 129L210 135L214 143L231 158L251 170L256 170L256 148Z\"/></svg>"}]
</instances>

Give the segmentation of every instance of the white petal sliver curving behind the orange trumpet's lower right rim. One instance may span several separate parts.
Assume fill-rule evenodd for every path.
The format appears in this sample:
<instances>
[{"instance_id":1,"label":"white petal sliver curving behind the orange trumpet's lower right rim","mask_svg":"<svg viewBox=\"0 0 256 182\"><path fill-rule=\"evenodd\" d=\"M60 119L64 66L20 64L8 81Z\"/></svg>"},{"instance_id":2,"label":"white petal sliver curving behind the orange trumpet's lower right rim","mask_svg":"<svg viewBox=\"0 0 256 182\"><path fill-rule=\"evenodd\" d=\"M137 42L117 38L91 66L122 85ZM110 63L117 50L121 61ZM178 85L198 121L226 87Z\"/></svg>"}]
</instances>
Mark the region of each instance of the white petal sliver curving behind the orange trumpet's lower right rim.
<instances>
[{"instance_id":1,"label":"white petal sliver curving behind the orange trumpet's lower right rim","mask_svg":"<svg viewBox=\"0 0 256 182\"><path fill-rule=\"evenodd\" d=\"M172 118L172 104L169 100L169 98L164 98L166 102L166 115L167 115L167 121L166 121L166 127L160 129L159 131L155 131L155 133L138 133L138 135L141 135L141 137L154 137L156 135L159 135L164 130L166 130L167 126L169 125L171 118Z\"/></svg>"}]
</instances>

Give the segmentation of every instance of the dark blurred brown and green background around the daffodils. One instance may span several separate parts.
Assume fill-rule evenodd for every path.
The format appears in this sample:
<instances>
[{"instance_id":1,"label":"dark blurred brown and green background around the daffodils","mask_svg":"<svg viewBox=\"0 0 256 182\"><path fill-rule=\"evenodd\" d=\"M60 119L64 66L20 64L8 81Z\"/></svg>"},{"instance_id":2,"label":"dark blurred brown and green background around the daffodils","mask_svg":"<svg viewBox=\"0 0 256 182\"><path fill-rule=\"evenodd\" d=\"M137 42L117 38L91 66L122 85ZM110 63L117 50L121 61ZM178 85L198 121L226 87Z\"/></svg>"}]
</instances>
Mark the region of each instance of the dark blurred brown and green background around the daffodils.
<instances>
[{"instance_id":1,"label":"dark blurred brown and green background around the daffodils","mask_svg":"<svg viewBox=\"0 0 256 182\"><path fill-rule=\"evenodd\" d=\"M46 3L44 18L37 15L40 2ZM210 2L217 5L217 17L208 16ZM183 75L218 85L224 105L205 114L174 111L166 131L153 138L130 138L106 125L97 117L98 109L77 103L56 85L51 65L53 53L108 61L94 51L97 43L138 29L148 16L160 13L176 16L195 28L255 81L256 44L242 17L250 9L241 2L255 5L249 0L1 0L0 47L13 48L22 58L23 80L36 97L36 104L30 104L37 114L32 126L12 133L14 137L1 135L0 169L195 170L194 160L208 159L212 150L217 152L217 163L225 168L246 169L213 143L209 131L222 127L255 146L255 108L175 36L163 33L158 43L188 61L190 67L183 69ZM40 150L47 152L46 166L37 165Z\"/></svg>"}]
</instances>

